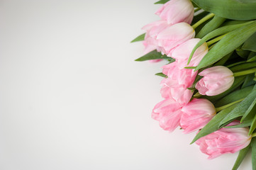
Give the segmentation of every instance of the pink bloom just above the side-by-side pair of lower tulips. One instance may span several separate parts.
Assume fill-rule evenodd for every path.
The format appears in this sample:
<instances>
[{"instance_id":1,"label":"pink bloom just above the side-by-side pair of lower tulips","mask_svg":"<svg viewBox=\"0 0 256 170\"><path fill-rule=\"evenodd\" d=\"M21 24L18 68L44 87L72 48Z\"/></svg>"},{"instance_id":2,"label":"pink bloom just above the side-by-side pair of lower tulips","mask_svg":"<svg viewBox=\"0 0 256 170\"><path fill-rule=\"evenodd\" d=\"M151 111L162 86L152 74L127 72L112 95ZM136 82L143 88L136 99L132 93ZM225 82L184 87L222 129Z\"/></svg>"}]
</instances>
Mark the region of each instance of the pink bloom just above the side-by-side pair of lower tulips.
<instances>
[{"instance_id":1,"label":"pink bloom just above the side-by-side pair of lower tulips","mask_svg":"<svg viewBox=\"0 0 256 170\"><path fill-rule=\"evenodd\" d=\"M184 106L189 103L193 92L182 85L177 84L177 81L167 78L161 81L161 95L163 98L173 98L174 101Z\"/></svg>"}]
</instances>

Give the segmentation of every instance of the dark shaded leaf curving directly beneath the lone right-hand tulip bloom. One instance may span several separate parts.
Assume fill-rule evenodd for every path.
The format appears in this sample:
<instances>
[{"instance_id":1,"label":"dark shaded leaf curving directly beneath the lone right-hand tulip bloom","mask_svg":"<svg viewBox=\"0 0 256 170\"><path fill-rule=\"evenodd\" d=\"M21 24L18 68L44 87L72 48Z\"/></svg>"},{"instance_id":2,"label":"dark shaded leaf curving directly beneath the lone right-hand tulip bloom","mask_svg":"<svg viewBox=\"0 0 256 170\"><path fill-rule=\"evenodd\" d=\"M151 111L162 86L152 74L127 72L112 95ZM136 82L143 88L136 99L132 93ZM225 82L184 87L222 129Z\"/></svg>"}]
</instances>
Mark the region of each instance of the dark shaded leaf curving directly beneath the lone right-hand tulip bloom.
<instances>
[{"instance_id":1,"label":"dark shaded leaf curving directly beneath the lone right-hand tulip bloom","mask_svg":"<svg viewBox=\"0 0 256 170\"><path fill-rule=\"evenodd\" d=\"M230 94L232 91L238 88L241 84L243 84L243 81L245 81L245 77L235 77L235 81L233 85L228 89L227 91L224 91L222 94L218 94L216 96L203 96L203 98L208 99L212 103L215 103L216 101L220 100L224 96Z\"/></svg>"}]
</instances>

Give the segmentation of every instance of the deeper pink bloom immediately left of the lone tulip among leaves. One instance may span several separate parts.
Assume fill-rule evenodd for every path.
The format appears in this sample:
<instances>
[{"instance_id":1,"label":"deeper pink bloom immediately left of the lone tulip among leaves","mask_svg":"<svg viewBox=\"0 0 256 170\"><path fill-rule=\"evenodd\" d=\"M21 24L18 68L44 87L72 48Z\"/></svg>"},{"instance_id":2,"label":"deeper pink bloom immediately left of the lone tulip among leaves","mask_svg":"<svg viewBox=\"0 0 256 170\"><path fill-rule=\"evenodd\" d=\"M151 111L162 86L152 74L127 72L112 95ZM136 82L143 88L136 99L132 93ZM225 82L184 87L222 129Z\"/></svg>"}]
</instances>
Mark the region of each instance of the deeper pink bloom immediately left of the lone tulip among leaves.
<instances>
[{"instance_id":1,"label":"deeper pink bloom immediately left of the lone tulip among leaves","mask_svg":"<svg viewBox=\"0 0 256 170\"><path fill-rule=\"evenodd\" d=\"M191 87L197 74L193 69L180 69L177 62L172 62L162 68L162 73L167 75L169 79L172 79L177 85L176 87Z\"/></svg>"}]
</instances>

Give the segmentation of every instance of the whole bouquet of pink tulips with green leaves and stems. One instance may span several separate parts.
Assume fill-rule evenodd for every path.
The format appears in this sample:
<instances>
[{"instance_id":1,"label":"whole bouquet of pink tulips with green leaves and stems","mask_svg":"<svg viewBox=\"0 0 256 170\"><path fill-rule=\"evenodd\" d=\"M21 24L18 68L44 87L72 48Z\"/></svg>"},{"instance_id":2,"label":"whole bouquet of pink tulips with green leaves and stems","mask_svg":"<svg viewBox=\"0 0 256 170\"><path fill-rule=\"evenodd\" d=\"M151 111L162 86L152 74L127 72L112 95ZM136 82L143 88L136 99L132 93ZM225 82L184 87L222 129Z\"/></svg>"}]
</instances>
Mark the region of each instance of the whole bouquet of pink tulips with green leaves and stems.
<instances>
[{"instance_id":1,"label":"whole bouquet of pink tulips with green leaves and stems","mask_svg":"<svg viewBox=\"0 0 256 170\"><path fill-rule=\"evenodd\" d=\"M256 0L161 0L159 21L143 27L145 55L165 60L163 101L152 110L162 129L197 132L209 159L252 149L256 169Z\"/></svg>"}]
</instances>

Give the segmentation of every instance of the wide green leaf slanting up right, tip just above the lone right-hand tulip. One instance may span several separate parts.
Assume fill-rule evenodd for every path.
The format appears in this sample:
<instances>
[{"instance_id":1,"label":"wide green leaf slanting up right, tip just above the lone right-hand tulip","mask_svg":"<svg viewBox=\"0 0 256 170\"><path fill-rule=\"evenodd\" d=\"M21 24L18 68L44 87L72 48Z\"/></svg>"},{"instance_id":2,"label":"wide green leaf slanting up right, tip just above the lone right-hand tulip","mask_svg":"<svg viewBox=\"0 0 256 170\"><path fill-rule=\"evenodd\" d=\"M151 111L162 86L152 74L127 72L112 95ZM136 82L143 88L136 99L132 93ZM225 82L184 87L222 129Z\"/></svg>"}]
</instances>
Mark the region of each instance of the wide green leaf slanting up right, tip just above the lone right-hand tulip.
<instances>
[{"instance_id":1,"label":"wide green leaf slanting up right, tip just above the lone right-hand tulip","mask_svg":"<svg viewBox=\"0 0 256 170\"><path fill-rule=\"evenodd\" d=\"M226 36L224 36L216 45L213 46L211 50L204 56L199 65L195 70L199 70L203 67L206 67L218 60L221 60L222 57L228 55L236 48L247 40L253 33L256 32L256 21L248 24L247 26L240 27L236 30L231 31Z\"/></svg>"}]
</instances>

